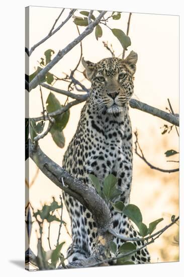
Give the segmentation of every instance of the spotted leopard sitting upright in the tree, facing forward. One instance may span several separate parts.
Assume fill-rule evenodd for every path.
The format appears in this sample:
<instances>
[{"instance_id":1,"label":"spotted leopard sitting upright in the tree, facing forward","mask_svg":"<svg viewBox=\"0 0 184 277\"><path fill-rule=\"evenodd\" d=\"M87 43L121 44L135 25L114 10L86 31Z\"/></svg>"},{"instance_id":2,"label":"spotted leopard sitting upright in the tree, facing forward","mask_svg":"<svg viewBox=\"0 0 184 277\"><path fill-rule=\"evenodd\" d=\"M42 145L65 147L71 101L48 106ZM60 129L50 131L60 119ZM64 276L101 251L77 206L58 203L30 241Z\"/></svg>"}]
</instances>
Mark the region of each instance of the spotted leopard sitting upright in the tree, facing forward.
<instances>
[{"instance_id":1,"label":"spotted leopard sitting upright in the tree, facing forward","mask_svg":"<svg viewBox=\"0 0 184 277\"><path fill-rule=\"evenodd\" d=\"M102 188L105 178L113 174L121 194L115 200L130 203L133 150L129 100L134 91L134 74L138 55L131 51L126 58L108 57L97 63L84 60L84 75L91 83L76 132L64 154L62 166L84 185L93 185L89 174L94 174ZM98 230L93 215L78 200L63 192L63 200L71 219L72 243L67 250L68 262L87 259L93 253ZM129 238L141 238L131 220L109 206L113 230ZM117 249L125 240L113 237ZM144 241L133 241L136 247ZM146 247L135 252L130 261L149 263Z\"/></svg>"}]
</instances>

